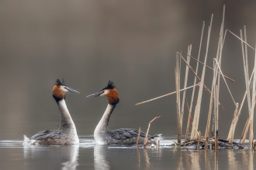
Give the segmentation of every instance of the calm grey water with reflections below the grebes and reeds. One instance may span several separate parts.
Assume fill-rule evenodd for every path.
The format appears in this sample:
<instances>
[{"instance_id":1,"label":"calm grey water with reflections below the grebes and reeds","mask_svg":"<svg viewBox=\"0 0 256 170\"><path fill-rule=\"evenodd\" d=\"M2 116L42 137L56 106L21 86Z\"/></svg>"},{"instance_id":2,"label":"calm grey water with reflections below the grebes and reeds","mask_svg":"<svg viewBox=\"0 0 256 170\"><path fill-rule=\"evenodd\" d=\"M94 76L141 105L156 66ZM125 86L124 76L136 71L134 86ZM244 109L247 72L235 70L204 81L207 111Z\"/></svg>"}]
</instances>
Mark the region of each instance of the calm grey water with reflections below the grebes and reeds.
<instances>
[{"instance_id":1,"label":"calm grey water with reflections below the grebes and reeds","mask_svg":"<svg viewBox=\"0 0 256 170\"><path fill-rule=\"evenodd\" d=\"M81 145L23 147L22 141L0 141L0 169L254 169L254 151L189 150L95 145L80 136Z\"/></svg>"}]
</instances>

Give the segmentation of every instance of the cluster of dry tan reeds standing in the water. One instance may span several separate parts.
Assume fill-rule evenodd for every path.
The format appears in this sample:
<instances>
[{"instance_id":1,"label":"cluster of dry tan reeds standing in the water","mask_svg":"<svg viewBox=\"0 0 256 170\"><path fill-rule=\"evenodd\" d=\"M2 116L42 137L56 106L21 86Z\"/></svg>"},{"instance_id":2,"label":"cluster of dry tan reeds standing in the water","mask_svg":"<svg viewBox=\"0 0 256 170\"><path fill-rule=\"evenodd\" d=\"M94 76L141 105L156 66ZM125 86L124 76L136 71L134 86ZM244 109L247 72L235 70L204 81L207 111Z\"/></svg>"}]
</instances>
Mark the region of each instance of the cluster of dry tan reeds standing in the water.
<instances>
[{"instance_id":1,"label":"cluster of dry tan reeds standing in the water","mask_svg":"<svg viewBox=\"0 0 256 170\"><path fill-rule=\"evenodd\" d=\"M208 31L207 31L207 44L206 44L206 54L205 54L204 62L203 63L200 62L199 58L200 58L200 53L201 53L202 37L203 37L204 28L205 28L205 22L202 23L202 33L201 33L199 53L198 53L197 59L195 59L193 56L191 56L192 45L190 45L188 47L187 53L185 53L183 51L181 53L178 53L178 52L176 53L176 67L175 67L176 91L173 93L176 93L178 141L177 141L177 144L175 144L175 145L185 146L188 144L192 144L193 141L195 141L195 143L197 142L198 144L202 143L205 146L211 145L214 141L215 148L217 148L218 146L221 146L221 145L234 145L235 144L233 141L234 133L235 133L235 129L237 126L237 121L240 117L241 109L244 105L245 98L247 98L249 116L247 118L246 124L244 125L244 131L241 135L240 143L244 144L245 139L247 138L247 132L250 130L249 145L251 145L251 146L253 145L253 138L254 138L253 120L254 120L254 105L255 105L255 93L256 93L256 91L255 91L256 51L255 51L255 59L254 59L254 69L251 73L251 78L249 79L250 76L249 76L249 71L248 71L249 69L248 69L248 61L247 61L247 46L249 46L251 49L254 49L254 48L247 43L246 27L244 26L244 37L243 37L242 30L240 30L240 37L235 35L229 29L226 29L226 31L224 32L224 29L223 29L224 28L224 18L225 18L225 5L223 5L223 19L222 19L222 23L220 26L220 35L219 35L216 58L213 59L213 68L206 65L208 49L209 49L209 40L210 40L210 35L211 35L212 23L213 23L213 15L211 16L210 24L209 24ZM234 97L233 97L233 95L230 91L230 88L228 87L227 82L226 82L226 80L230 80L231 82L234 82L234 80L228 76L223 75L223 72L221 70L222 51L223 51L224 40L227 35L227 32L230 32L232 35L236 36L237 39L240 39L241 47L242 47L242 57L243 57L243 62L244 62L243 65L244 65L244 77L245 77L246 90L244 93L244 98L240 103L240 107L239 107L239 104L234 100ZM186 56L186 59L182 55ZM197 61L195 70L192 68L192 66L189 65L190 59L195 59L195 61ZM183 89L181 89L181 84L180 84L181 63L182 62L185 63L185 80L184 80L185 83L184 83ZM199 63L201 63L203 65L201 77L198 76ZM213 70L213 83L212 83L211 89L206 87L206 85L204 83L206 68ZM189 70L191 70L191 72L193 73L193 75L195 77L194 84L191 87L187 87ZM230 125L230 131L227 136L227 141L225 141L225 142L223 141L223 139L218 139L219 108L222 107L222 105L220 104L220 98L219 98L220 79L223 79L223 81L225 82L225 84L227 86L227 90L230 93L230 97L234 102L234 117L233 117L232 123ZM253 84L252 90L250 90L251 81ZM197 82L199 82L199 83L197 83ZM199 86L199 92L198 92L198 96L197 96L197 100L196 100L196 104L195 104L194 115L192 118L192 108L193 108L193 102L194 102L194 96L195 96L195 87L197 87L197 86ZM185 95L186 95L186 90L188 90L190 88L192 88L193 90L192 90L192 97L191 97L190 105L189 105ZM199 116L200 116L203 89L207 90L210 94L209 112L208 112L208 117L207 117L207 124L206 124L206 131L205 131L204 138L201 137L201 132L199 133ZM183 92L182 97L181 97L181 92ZM161 97L166 97L173 93L168 93ZM161 97L156 97L151 100L156 100ZM147 100L147 101L141 102L139 104L144 104L151 100ZM186 131L185 131L185 143L182 144L182 121L183 121L184 112L185 112L184 111L185 105L188 107L189 114L188 114L187 127L186 127ZM212 112L213 112L213 114L212 114ZM213 117L213 123L211 121L212 117ZM191 133L190 133L190 137L189 137L190 124L192 124L192 128L191 128ZM210 124L213 124L213 128L214 128L214 130L212 130L211 136L210 136ZM209 141L210 138L211 138L211 140ZM214 140L213 140L213 138L214 138ZM198 139L199 139L199 141L198 141Z\"/></svg>"}]
</instances>

